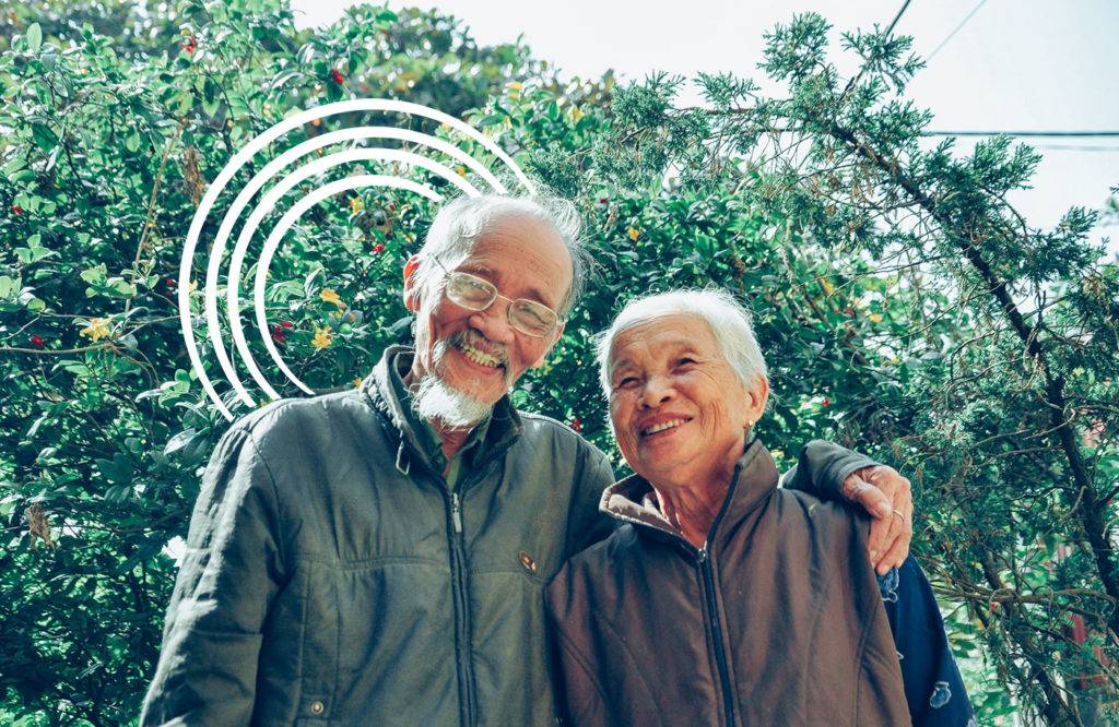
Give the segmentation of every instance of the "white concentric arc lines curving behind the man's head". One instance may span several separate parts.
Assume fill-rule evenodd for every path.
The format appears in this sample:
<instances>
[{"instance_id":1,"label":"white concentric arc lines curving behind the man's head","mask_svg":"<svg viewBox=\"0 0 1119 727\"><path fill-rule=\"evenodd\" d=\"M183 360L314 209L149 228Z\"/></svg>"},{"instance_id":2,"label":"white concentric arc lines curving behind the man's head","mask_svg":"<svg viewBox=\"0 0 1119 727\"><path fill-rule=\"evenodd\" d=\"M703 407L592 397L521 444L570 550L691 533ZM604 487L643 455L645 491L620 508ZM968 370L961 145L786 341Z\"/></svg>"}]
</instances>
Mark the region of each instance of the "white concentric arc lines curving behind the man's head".
<instances>
[{"instance_id":1,"label":"white concentric arc lines curving behind the man's head","mask_svg":"<svg viewBox=\"0 0 1119 727\"><path fill-rule=\"evenodd\" d=\"M203 197L201 202L198 206L198 210L195 213L194 220L190 224L190 230L187 234L186 245L182 249L182 259L179 264L179 281L185 282L192 280L191 266L195 249L198 246L198 239L201 235L206 218L209 215L210 209L214 207L214 202L217 200L218 196L225 189L226 185L229 183L229 180L233 179L233 177L241 170L241 168L257 152L260 152L265 144L275 141L292 129L312 123L316 120L348 112L395 112L406 116L422 116L424 119L446 124L448 126L462 133L466 138L477 141L487 151L492 153L506 167L508 167L509 170L513 171L517 180L527 191L532 192L534 189L532 182L513 160L513 158L505 153L505 151L493 143L492 140L469 124L441 111L420 104L387 98L359 98L318 106L285 119L284 121L271 126L258 136L255 136L247 147L242 149L236 155L234 155L233 159L229 160L214 182L210 183L206 190L206 195ZM237 195L233 205L231 205L228 211L223 217L222 224L218 227L217 236L214 238L214 244L210 247L209 264L206 268L206 285L204 289L206 328L210 344L214 349L214 355L217 357L217 361L222 367L224 377L233 386L237 400L246 406L256 406L256 400L252 397L252 395L250 395L248 389L246 389L245 385L242 383L236 368L229 359L229 352L226 350L225 343L222 340L217 289L222 272L222 261L225 257L225 247L226 242L229 238L229 234L232 233L233 227L241 217L242 213L248 206L250 201L262 188L264 188L266 183L269 183L272 177L279 174L282 170L290 166L294 166L297 163L299 164L295 166L292 171L288 172L260 199L258 204L252 209L248 219L242 227L229 261L229 271L226 276L225 301L226 317L229 322L229 330L233 334L233 341L236 347L237 355L241 360L244 361L245 368L248 369L248 374L253 381L266 394L270 399L278 399L280 398L280 395L267 381L261 372L260 367L253 360L253 356L245 341L245 332L241 323L241 274L242 268L245 266L245 255L248 251L248 244L252 240L253 235L256 233L256 228L261 225L264 217L275 209L276 202L282 199L286 192L300 182L347 162L384 161L396 162L403 167L426 170L431 174L435 174L451 185L454 185L454 187L463 193L471 197L482 193L464 176L457 173L446 166L422 157L414 151L405 151L402 149L373 148L369 145L363 145L332 154L316 157L313 161L310 162L299 163L300 160L307 154L325 149L330 144L340 142L361 142L365 140L393 140L410 142L419 147L426 147L429 149L440 151L474 172L490 186L492 191L498 193L505 193L508 191L483 163L476 160L461 149L430 134L407 129L397 129L395 126L356 126L352 129L332 131L309 139L269 162L264 169L257 172L252 180L250 180L241 193ZM264 248L261 251L261 257L256 264L256 273L253 280L253 306L261 340L264 341L264 346L269 356L272 358L273 364L275 364L276 367L283 371L284 376L288 377L288 380L309 395L313 395L314 391L312 391L292 372L290 368L288 368L286 364L284 364L281 358L280 351L276 349L272 337L269 334L269 323L264 305L265 283L269 266L271 264L272 256L275 254L276 247L279 247L280 243L283 240L284 235L307 210L333 195L366 187L402 189L420 195L434 202L439 202L443 199L440 193L427 185L419 183L412 179L406 179L395 174L352 174L350 177L326 183L318 189L314 189L311 193L293 205L291 209L283 215L276 226L269 232L264 243ZM190 364L198 376L198 381L201 384L206 394L209 396L210 400L214 402L214 405L222 413L222 415L232 422L234 416L229 412L229 408L225 405L225 402L222 400L217 390L214 388L214 383L206 374L201 357L198 353L198 346L195 341L192 318L190 314L190 286L188 284L179 286L178 304L179 321L182 327L182 340L186 343L187 353L190 357Z\"/></svg>"}]
</instances>

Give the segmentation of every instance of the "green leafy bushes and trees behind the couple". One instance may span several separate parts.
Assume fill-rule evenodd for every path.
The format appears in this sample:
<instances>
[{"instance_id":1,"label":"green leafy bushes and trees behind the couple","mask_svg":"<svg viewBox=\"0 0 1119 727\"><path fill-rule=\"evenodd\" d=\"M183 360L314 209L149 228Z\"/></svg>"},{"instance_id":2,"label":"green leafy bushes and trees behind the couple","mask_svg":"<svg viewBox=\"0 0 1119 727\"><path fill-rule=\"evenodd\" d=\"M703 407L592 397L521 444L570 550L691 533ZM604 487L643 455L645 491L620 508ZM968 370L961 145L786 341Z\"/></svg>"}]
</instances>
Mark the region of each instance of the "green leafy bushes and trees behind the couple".
<instances>
[{"instance_id":1,"label":"green leafy bushes and trees behind the couple","mask_svg":"<svg viewBox=\"0 0 1119 727\"><path fill-rule=\"evenodd\" d=\"M762 68L784 95L700 76L708 101L688 108L683 79L570 79L417 10L298 31L279 0L38 0L4 4L0 28L0 721L134 718L175 577L166 546L227 426L179 330L179 286L197 282L176 280L186 230L250 139L351 97L467 119L583 209L599 281L520 406L612 451L590 336L638 292L730 287L771 364L761 427L779 456L829 437L913 479L915 549L980 724L1113 716L1119 271L1085 242L1096 213L1043 230L1006 204L1032 150L922 139L908 39L841 36L862 69L840 78L836 32L791 19ZM375 121L392 119L298 130L231 187L299 141ZM421 199L367 190L292 229L269 320L310 386L351 386L407 336L399 270L429 219Z\"/></svg>"}]
</instances>

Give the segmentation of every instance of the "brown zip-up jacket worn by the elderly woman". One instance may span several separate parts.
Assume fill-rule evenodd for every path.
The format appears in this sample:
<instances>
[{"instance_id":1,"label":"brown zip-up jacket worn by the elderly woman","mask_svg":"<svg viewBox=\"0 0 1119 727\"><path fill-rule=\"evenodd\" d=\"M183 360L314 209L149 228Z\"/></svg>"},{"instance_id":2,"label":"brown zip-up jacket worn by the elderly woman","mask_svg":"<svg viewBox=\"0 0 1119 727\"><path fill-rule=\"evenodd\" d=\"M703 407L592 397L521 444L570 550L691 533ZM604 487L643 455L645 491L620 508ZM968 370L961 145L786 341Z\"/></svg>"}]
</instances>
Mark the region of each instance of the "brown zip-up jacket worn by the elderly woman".
<instances>
[{"instance_id":1,"label":"brown zip-up jacket worn by the elderly woman","mask_svg":"<svg viewBox=\"0 0 1119 727\"><path fill-rule=\"evenodd\" d=\"M645 480L603 493L629 525L547 591L570 724L910 724L866 520L777 484L753 442L700 550Z\"/></svg>"}]
</instances>

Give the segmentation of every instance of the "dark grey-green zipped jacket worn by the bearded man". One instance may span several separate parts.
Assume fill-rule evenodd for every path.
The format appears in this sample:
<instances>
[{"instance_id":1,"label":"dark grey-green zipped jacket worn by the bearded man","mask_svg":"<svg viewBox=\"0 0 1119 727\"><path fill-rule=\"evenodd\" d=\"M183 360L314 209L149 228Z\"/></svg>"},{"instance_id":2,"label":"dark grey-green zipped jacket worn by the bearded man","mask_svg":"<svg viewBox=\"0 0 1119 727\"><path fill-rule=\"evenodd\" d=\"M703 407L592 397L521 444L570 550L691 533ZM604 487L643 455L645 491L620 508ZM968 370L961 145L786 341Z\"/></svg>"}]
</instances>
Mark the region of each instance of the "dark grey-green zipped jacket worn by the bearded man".
<instances>
[{"instance_id":1,"label":"dark grey-green zipped jacket worn by the bearded man","mask_svg":"<svg viewBox=\"0 0 1119 727\"><path fill-rule=\"evenodd\" d=\"M449 490L388 383L411 358L223 436L142 724L553 724L543 592L611 531L610 463L505 398ZM831 491L871 464L818 452Z\"/></svg>"}]
</instances>

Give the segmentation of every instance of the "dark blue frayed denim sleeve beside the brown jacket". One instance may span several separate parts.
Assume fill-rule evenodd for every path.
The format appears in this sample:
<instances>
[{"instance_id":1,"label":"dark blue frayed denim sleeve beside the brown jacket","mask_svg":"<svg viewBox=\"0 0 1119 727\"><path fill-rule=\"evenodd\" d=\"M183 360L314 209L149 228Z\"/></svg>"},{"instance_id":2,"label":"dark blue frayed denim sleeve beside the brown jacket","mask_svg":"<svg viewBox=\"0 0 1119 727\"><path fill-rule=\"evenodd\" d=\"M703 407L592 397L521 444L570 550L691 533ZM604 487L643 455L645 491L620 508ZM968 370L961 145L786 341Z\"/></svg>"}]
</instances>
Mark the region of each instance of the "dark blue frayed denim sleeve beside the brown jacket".
<instances>
[{"instance_id":1,"label":"dark blue frayed denim sleeve beside the brown jacket","mask_svg":"<svg viewBox=\"0 0 1119 727\"><path fill-rule=\"evenodd\" d=\"M901 569L878 576L878 588L894 632L913 724L930 727L976 724L960 670L948 648L937 598L921 567L909 557Z\"/></svg>"}]
</instances>

